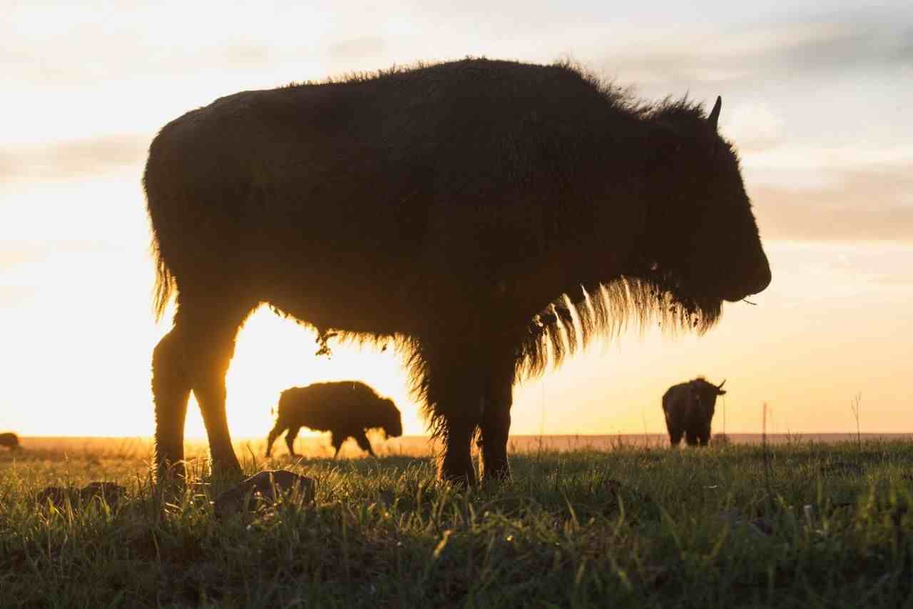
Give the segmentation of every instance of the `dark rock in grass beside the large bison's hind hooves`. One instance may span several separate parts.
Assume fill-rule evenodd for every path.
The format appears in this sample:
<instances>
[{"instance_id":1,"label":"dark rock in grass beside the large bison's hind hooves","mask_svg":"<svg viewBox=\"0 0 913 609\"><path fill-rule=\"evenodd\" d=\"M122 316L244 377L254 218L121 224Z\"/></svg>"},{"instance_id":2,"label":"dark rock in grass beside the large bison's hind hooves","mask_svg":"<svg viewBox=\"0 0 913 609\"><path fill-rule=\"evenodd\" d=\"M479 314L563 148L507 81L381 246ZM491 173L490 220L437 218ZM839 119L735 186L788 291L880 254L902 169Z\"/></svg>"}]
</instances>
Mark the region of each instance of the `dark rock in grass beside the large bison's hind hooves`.
<instances>
[{"instance_id":1,"label":"dark rock in grass beside the large bison's hind hooves","mask_svg":"<svg viewBox=\"0 0 913 609\"><path fill-rule=\"evenodd\" d=\"M244 509L246 501L248 508L257 509L263 503L276 503L281 496L288 496L303 505L314 500L315 486L315 480L305 475L284 469L267 470L250 476L215 497L213 510L217 517L228 516Z\"/></svg>"}]
</instances>

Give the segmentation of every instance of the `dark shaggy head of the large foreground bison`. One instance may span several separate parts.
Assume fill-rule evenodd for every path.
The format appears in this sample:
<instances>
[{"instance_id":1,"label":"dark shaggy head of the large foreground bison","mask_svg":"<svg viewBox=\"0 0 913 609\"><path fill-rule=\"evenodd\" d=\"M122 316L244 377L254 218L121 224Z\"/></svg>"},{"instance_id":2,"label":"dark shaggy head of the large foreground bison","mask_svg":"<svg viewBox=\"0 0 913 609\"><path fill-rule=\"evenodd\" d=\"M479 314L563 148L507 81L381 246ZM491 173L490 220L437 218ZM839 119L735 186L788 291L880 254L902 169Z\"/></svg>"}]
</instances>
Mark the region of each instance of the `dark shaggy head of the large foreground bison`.
<instances>
[{"instance_id":1,"label":"dark shaggy head of the large foreground bison","mask_svg":"<svg viewBox=\"0 0 913 609\"><path fill-rule=\"evenodd\" d=\"M771 283L739 157L717 132L721 103L718 97L706 118L687 102L656 110L648 245L636 273L705 326L719 317L722 301L739 301Z\"/></svg>"}]
</instances>

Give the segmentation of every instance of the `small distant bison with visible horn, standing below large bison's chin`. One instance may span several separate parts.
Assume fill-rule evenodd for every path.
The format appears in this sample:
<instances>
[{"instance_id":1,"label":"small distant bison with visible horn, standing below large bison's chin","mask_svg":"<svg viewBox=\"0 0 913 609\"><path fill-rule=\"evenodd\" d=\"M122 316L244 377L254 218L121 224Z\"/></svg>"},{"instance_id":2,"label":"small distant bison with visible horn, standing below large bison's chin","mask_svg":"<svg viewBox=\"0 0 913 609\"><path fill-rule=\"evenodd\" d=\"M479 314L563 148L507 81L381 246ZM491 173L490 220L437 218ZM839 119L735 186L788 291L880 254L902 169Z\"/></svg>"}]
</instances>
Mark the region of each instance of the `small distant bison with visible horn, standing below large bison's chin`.
<instances>
[{"instance_id":1,"label":"small distant bison with visible horn, standing below large bison's chin","mask_svg":"<svg viewBox=\"0 0 913 609\"><path fill-rule=\"evenodd\" d=\"M710 439L710 421L717 405L717 396L726 393L723 385L714 385L703 377L687 383L673 385L663 394L663 411L666 413L666 429L673 448L685 435L688 446L698 443L706 446Z\"/></svg>"}]
</instances>

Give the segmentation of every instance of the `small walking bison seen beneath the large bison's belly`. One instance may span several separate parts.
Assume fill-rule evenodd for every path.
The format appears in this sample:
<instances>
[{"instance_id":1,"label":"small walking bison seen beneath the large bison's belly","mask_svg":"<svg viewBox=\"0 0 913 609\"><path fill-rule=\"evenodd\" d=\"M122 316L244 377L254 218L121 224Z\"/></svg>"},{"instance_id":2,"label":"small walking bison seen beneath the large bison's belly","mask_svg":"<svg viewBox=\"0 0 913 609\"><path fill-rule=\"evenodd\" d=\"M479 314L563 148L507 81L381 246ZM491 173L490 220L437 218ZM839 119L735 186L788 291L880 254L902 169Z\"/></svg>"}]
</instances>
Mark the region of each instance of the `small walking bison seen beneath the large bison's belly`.
<instances>
[{"instance_id":1,"label":"small walking bison seen beneath the large bison's belly","mask_svg":"<svg viewBox=\"0 0 913 609\"><path fill-rule=\"evenodd\" d=\"M331 443L340 454L340 448L349 438L374 455L365 431L380 428L389 437L403 435L403 421L393 400L377 393L356 380L331 383L314 383L307 387L292 387L279 396L276 426L269 432L267 456L276 438L286 433L289 454L295 454L295 438L301 427L319 432L330 432Z\"/></svg>"}]
</instances>

